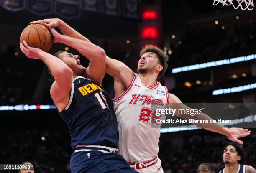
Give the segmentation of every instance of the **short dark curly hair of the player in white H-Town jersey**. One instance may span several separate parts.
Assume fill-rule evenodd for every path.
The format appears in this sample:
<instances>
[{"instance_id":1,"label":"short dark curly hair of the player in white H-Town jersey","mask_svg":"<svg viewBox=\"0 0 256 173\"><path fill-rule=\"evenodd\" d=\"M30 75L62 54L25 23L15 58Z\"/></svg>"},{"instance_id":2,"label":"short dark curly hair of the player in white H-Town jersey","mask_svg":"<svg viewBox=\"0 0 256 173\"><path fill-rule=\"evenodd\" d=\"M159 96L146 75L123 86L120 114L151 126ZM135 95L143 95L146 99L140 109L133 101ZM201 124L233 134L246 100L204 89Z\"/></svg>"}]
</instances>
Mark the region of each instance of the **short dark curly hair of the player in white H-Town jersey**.
<instances>
[{"instance_id":1,"label":"short dark curly hair of the player in white H-Town jersey","mask_svg":"<svg viewBox=\"0 0 256 173\"><path fill-rule=\"evenodd\" d=\"M168 67L167 61L169 60L168 56L166 54L164 54L164 52L157 46L153 46L153 45L146 45L145 48L143 48L141 50L140 56L143 55L143 53L146 52L154 52L156 53L160 64L163 66L163 70L161 70L158 74L158 77L162 77L164 76L164 73Z\"/></svg>"}]
</instances>

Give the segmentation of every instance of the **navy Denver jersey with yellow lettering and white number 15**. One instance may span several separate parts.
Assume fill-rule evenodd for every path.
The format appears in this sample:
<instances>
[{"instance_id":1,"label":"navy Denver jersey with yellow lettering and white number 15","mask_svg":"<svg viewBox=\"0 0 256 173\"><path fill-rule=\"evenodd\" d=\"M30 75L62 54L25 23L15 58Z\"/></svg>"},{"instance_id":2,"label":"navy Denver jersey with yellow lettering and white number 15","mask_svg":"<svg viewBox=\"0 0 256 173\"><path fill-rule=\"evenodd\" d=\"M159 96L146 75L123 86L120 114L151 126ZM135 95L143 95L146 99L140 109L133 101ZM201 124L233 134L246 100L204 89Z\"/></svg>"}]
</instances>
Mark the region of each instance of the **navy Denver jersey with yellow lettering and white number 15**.
<instances>
[{"instance_id":1,"label":"navy Denver jersey with yellow lettering and white number 15","mask_svg":"<svg viewBox=\"0 0 256 173\"><path fill-rule=\"evenodd\" d=\"M96 82L76 77L69 103L59 114L69 128L73 149L81 144L118 148L118 122L113 102Z\"/></svg>"}]
</instances>

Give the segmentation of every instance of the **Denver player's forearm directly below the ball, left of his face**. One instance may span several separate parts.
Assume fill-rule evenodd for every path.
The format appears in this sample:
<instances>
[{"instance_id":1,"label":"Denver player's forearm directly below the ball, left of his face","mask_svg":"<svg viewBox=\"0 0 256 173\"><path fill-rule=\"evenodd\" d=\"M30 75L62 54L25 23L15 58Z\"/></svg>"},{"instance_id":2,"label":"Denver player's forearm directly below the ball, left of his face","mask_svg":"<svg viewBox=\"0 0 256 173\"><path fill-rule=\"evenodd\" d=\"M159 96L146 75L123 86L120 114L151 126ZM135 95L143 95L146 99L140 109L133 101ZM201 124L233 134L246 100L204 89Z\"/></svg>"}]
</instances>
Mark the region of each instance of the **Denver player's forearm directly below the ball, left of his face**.
<instances>
[{"instance_id":1,"label":"Denver player's forearm directly below the ball, left of his face","mask_svg":"<svg viewBox=\"0 0 256 173\"><path fill-rule=\"evenodd\" d=\"M40 59L49 67L51 73L55 78L63 75L73 75L72 70L61 59L46 53L40 53Z\"/></svg>"}]
</instances>

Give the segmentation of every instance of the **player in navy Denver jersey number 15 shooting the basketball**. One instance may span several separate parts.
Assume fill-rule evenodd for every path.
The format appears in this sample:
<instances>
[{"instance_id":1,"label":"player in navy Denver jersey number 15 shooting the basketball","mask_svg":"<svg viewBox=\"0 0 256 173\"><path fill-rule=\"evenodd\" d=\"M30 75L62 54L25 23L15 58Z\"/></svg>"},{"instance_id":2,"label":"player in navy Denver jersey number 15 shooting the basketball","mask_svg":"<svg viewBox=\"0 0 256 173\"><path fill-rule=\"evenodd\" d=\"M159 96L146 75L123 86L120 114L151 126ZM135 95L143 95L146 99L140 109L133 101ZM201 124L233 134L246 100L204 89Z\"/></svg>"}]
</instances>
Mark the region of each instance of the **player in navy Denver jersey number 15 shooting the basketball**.
<instances>
[{"instance_id":1,"label":"player in navy Denver jersey number 15 shooting the basketball","mask_svg":"<svg viewBox=\"0 0 256 173\"><path fill-rule=\"evenodd\" d=\"M74 153L70 160L72 173L136 173L118 154L118 124L112 101L102 88L105 76L105 51L89 42L64 36L51 28L54 42L77 49L90 60L88 68L80 65L78 55L60 51L55 56L25 41L21 51L41 59L54 76L51 98L66 122ZM90 79L89 79L90 78Z\"/></svg>"}]
</instances>

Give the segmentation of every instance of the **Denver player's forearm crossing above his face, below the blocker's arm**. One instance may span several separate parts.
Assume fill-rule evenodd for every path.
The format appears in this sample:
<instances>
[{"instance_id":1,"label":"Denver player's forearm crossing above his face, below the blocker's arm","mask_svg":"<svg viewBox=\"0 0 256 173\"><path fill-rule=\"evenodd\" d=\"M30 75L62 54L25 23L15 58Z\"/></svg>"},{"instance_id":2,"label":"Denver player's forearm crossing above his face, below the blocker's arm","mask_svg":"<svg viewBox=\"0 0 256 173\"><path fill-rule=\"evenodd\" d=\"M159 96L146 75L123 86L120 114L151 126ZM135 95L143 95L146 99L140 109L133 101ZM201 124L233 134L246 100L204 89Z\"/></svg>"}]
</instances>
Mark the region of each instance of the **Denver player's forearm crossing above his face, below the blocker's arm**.
<instances>
[{"instance_id":1,"label":"Denver player's forearm crossing above his face, below the blocker's arm","mask_svg":"<svg viewBox=\"0 0 256 173\"><path fill-rule=\"evenodd\" d=\"M66 44L76 49L89 60L91 59L103 60L106 57L105 51L102 48L90 42L83 41L77 38L72 38L65 35L61 35L58 40L60 43Z\"/></svg>"}]
</instances>

